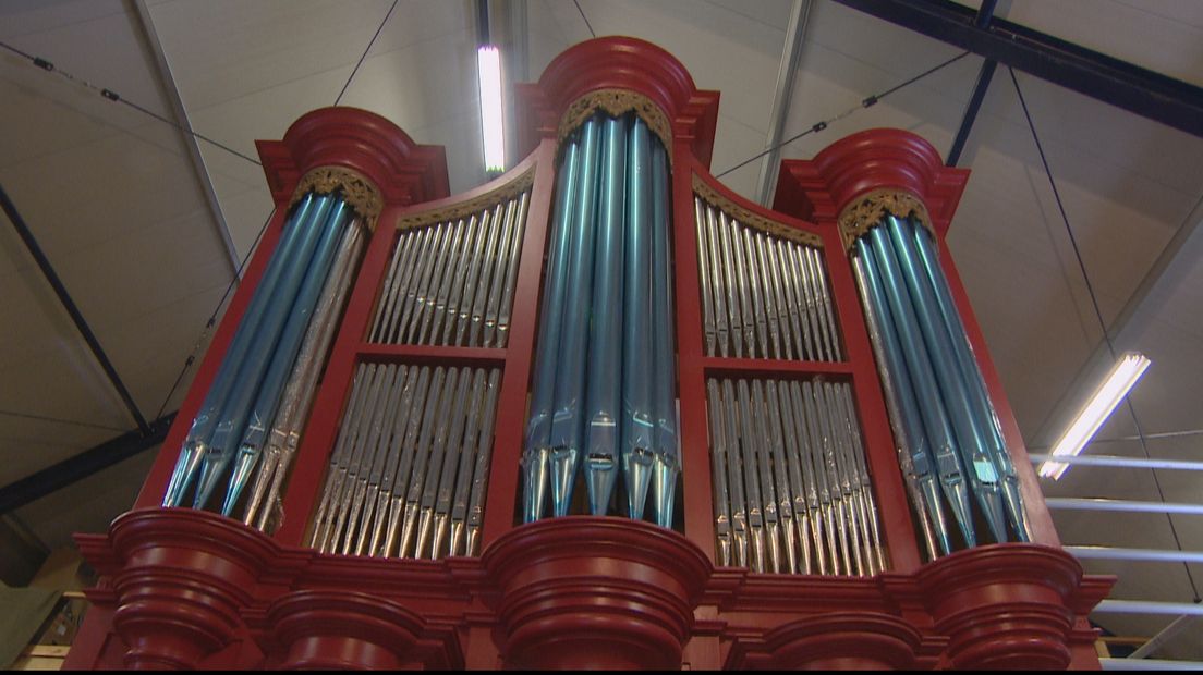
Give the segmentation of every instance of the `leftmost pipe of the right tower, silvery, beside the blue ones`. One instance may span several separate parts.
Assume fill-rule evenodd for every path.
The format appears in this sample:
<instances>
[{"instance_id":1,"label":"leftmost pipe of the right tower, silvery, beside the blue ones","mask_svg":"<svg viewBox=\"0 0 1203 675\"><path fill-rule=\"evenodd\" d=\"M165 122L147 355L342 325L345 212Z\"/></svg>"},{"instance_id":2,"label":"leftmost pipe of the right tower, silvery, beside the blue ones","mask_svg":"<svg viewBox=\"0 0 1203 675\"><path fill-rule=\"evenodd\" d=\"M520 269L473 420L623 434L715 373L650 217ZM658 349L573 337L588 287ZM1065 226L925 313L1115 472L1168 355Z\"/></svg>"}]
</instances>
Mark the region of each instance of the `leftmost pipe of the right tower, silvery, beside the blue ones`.
<instances>
[{"instance_id":1,"label":"leftmost pipe of the right tower, silvery, beside the blue ones","mask_svg":"<svg viewBox=\"0 0 1203 675\"><path fill-rule=\"evenodd\" d=\"M893 383L890 394L894 398L894 407L899 411L899 423L902 428L902 436L905 436L901 441L906 444L907 454L911 456L915 483L923 496L924 503L915 506L928 513L936 540L944 555L948 555L953 550L952 539L944 510L940 508L940 488L932 471L930 442L923 428L914 386L911 382L906 359L899 345L897 324L885 300L882 280L878 277L877 265L872 259L872 250L864 238L857 241L857 257L853 259L853 265L858 276L863 277L861 285L869 305L866 310L877 327L877 338L881 341L881 351L885 362L883 365Z\"/></svg>"}]
</instances>

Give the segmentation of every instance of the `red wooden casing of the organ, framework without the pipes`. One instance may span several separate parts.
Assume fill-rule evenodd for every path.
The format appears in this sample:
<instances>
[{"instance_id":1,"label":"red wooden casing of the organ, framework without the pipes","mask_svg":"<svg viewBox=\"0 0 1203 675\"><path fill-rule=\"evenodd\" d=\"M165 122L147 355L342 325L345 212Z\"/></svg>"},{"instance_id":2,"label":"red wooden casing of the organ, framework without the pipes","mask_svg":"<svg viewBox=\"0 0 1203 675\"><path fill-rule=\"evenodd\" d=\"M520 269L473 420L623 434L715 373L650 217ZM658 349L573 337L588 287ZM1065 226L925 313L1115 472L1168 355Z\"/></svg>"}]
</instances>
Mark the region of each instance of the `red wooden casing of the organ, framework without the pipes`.
<instances>
[{"instance_id":1,"label":"red wooden casing of the organ, framework without the pipes","mask_svg":"<svg viewBox=\"0 0 1203 675\"><path fill-rule=\"evenodd\" d=\"M614 515L521 522L520 460L557 149L598 109L644 119L664 143L671 167L681 453L676 530ZM539 83L520 86L517 133L526 159L464 195L448 196L442 149L416 145L391 123L363 110L315 110L297 120L282 142L260 142L275 215L135 508L106 534L77 536L101 580L88 593L93 607L66 665L1097 668L1086 615L1113 580L1084 575L1060 549L943 245L967 172L943 167L938 154L914 135L865 132L836 142L813 161L784 162L770 210L710 174L717 110L718 92L698 90L671 55L642 41L609 37L570 48ZM283 516L265 533L208 510L164 508L191 418L226 356L290 207L308 190L342 191L374 227L280 494ZM985 544L935 560L924 551L840 225L848 204L881 190L923 202L940 234L941 264L1013 453L1031 543ZM404 259L397 246L407 232L458 222L518 192L526 195L526 219L509 249L515 267L504 346L374 339L385 288L393 283L392 261ZM840 358L771 358L764 356L768 347L759 357L721 356L707 348L699 293L705 281L697 214L703 208L753 228L748 237L793 237L812 246L830 301L828 330ZM782 291L780 298L787 297ZM473 555L438 555L435 548L433 558L415 560L320 552L312 545L332 453L346 432L343 419L352 382L366 364L498 372L479 549ZM775 574L722 565L707 382L816 377L851 393L849 414L859 420L879 525L876 548L867 531L863 534L865 552L879 555L885 569Z\"/></svg>"}]
</instances>

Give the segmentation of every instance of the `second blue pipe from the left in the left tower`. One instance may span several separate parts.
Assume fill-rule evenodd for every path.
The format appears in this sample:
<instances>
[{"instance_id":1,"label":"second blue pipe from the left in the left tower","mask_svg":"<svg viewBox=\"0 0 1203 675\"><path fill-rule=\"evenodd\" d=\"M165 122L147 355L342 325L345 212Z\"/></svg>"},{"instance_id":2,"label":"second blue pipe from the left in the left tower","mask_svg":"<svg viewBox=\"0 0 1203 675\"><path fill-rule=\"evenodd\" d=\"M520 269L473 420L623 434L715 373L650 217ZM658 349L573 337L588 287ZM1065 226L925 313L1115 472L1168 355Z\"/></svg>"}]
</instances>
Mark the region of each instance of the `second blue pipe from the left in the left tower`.
<instances>
[{"instance_id":1,"label":"second blue pipe from the left in the left tower","mask_svg":"<svg viewBox=\"0 0 1203 675\"><path fill-rule=\"evenodd\" d=\"M242 437L247 416L250 413L251 400L262 383L271 354L279 341L280 330L296 300L303 275L313 259L314 250L322 239L332 238L328 237L328 232L333 222L337 222L334 217L331 217L332 211L340 217L344 207L345 204L342 199L338 199L337 203L327 201L324 204L324 209L318 211L314 221L315 226L310 227L302 235L303 239L297 256L298 264L285 270L279 286L272 294L263 319L255 331L251 347L247 352L245 362L238 369L235 388L230 392L225 407L221 410L218 425L213 430L209 447L205 453L203 464L201 465L192 508L203 508L208 503L209 496L220 480L223 470L225 470L232 459L237 449L236 443Z\"/></svg>"}]
</instances>

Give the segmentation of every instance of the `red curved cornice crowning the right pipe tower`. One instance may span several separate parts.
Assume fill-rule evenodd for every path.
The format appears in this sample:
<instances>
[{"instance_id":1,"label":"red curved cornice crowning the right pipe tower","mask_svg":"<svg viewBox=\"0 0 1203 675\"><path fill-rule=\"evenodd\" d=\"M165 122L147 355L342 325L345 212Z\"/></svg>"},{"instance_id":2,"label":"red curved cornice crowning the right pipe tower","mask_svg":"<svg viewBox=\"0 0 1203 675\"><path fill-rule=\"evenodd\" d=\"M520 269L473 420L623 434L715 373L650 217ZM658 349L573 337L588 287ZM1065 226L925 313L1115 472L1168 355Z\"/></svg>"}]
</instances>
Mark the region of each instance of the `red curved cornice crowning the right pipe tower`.
<instances>
[{"instance_id":1,"label":"red curved cornice crowning the right pipe tower","mask_svg":"<svg viewBox=\"0 0 1203 675\"><path fill-rule=\"evenodd\" d=\"M857 197L896 189L918 197L943 235L968 177L968 169L946 167L940 153L918 135L870 129L836 141L813 160L783 161L772 208L829 223Z\"/></svg>"}]
</instances>

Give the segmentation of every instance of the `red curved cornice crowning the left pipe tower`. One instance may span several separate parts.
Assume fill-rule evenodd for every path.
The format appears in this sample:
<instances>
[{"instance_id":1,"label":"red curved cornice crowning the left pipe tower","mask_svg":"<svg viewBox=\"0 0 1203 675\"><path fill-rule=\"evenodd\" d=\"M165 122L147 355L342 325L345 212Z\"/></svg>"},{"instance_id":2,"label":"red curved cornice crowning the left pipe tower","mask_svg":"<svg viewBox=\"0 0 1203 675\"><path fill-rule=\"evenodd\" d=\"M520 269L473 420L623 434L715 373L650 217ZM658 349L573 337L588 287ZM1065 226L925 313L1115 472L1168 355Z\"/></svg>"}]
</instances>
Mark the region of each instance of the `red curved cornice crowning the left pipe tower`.
<instances>
[{"instance_id":1,"label":"red curved cornice crowning the left pipe tower","mask_svg":"<svg viewBox=\"0 0 1203 675\"><path fill-rule=\"evenodd\" d=\"M306 113L283 141L256 141L272 198L288 202L306 172L325 166L356 171L375 184L386 204L409 205L450 193L442 145L419 145L387 119L360 108Z\"/></svg>"}]
</instances>

